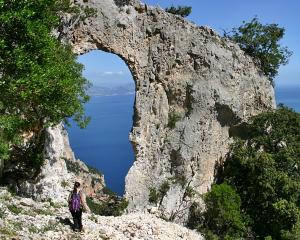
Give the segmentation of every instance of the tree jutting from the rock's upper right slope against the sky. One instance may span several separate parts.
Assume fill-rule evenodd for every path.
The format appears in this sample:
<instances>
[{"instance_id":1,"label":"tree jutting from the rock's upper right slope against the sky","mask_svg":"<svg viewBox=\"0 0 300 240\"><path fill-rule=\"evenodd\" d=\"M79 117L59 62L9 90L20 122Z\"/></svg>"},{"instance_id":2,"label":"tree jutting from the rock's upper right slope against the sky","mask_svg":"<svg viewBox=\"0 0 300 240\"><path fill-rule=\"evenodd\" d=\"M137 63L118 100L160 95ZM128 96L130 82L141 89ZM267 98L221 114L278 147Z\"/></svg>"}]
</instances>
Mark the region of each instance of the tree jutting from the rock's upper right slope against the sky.
<instances>
[{"instance_id":1,"label":"tree jutting from the rock's upper right slope against the sky","mask_svg":"<svg viewBox=\"0 0 300 240\"><path fill-rule=\"evenodd\" d=\"M247 54L259 60L261 70L272 82L279 66L287 64L292 54L279 44L284 31L278 24L263 25L258 18L253 18L250 22L243 22L240 27L233 28L230 34L225 33L224 36L237 42Z\"/></svg>"}]
</instances>

